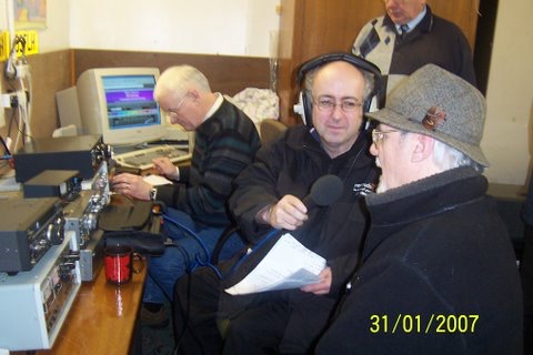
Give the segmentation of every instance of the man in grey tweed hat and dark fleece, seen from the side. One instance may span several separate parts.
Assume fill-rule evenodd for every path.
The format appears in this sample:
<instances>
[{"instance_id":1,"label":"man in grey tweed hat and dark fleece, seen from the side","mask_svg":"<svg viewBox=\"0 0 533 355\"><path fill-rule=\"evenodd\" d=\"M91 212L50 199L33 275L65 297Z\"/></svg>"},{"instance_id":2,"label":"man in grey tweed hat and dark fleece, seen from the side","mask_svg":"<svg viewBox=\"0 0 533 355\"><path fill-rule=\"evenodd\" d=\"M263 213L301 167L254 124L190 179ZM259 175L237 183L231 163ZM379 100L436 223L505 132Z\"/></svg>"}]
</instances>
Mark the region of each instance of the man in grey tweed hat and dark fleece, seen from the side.
<instances>
[{"instance_id":1,"label":"man in grey tweed hat and dark fleece, seen from the side","mask_svg":"<svg viewBox=\"0 0 533 355\"><path fill-rule=\"evenodd\" d=\"M514 253L482 175L483 95L428 64L369 116L371 227L316 354L522 354Z\"/></svg>"}]
</instances>

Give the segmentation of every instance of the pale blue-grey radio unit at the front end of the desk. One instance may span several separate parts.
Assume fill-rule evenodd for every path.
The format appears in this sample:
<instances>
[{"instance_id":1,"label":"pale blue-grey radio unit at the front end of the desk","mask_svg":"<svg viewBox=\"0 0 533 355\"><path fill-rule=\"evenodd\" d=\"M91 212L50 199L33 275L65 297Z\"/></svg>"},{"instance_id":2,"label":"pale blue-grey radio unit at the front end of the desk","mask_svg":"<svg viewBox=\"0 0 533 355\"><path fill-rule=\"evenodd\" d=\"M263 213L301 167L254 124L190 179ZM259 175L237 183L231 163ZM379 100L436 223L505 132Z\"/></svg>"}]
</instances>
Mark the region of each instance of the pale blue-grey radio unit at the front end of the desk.
<instances>
[{"instance_id":1,"label":"pale blue-grey radio unit at the front end of the desk","mask_svg":"<svg viewBox=\"0 0 533 355\"><path fill-rule=\"evenodd\" d=\"M72 233L51 246L37 265L9 276L0 273L0 348L33 351L53 346L81 286Z\"/></svg>"}]
</instances>

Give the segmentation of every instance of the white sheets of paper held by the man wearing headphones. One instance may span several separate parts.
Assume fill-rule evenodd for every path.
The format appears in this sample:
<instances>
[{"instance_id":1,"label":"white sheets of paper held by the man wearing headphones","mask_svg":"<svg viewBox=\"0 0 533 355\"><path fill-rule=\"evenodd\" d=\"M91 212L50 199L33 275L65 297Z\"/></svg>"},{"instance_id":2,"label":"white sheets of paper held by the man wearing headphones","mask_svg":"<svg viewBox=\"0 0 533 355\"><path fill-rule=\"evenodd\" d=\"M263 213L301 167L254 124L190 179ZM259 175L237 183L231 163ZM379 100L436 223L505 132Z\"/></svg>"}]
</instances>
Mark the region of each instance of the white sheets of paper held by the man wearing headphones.
<instances>
[{"instance_id":1,"label":"white sheets of paper held by the man wearing headphones","mask_svg":"<svg viewBox=\"0 0 533 355\"><path fill-rule=\"evenodd\" d=\"M250 274L225 292L243 295L298 288L319 282L319 274L324 267L325 258L303 246L290 233L285 233Z\"/></svg>"}]
</instances>

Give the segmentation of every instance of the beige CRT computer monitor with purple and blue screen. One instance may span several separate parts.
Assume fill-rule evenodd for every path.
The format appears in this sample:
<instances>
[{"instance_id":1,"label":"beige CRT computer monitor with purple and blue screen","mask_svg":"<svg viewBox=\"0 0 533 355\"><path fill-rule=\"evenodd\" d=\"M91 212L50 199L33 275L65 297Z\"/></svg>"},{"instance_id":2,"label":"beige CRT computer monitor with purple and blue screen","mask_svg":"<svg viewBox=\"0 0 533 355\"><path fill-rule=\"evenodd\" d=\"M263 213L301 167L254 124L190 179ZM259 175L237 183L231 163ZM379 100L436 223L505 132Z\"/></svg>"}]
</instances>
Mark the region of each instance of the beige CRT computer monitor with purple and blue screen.
<instances>
[{"instance_id":1,"label":"beige CRT computer monitor with purple and blue screen","mask_svg":"<svg viewBox=\"0 0 533 355\"><path fill-rule=\"evenodd\" d=\"M82 131L101 134L111 145L155 141L165 121L153 90L158 68L94 68L77 82Z\"/></svg>"}]
</instances>

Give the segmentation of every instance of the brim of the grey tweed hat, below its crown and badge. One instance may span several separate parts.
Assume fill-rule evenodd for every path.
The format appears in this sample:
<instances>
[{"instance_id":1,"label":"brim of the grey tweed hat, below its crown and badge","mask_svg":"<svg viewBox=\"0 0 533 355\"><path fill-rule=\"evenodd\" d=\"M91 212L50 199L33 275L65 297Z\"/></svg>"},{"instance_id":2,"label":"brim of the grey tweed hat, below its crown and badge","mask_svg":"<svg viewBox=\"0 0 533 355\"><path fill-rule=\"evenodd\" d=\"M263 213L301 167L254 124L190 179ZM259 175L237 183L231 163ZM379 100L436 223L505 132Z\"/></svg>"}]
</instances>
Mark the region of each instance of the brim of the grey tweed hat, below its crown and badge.
<instances>
[{"instance_id":1,"label":"brim of the grey tweed hat, below its crown and badge","mask_svg":"<svg viewBox=\"0 0 533 355\"><path fill-rule=\"evenodd\" d=\"M399 129L401 131L420 133L428 136L432 136L438 141L441 141L443 143L446 143L455 148L456 150L461 151L462 153L471 158L476 163L485 168L490 166L489 161L486 160L485 155L481 151L480 146L459 141L453 136L450 136L443 132L429 130L424 128L422 124L420 124L419 121L406 118L391 109L384 108L379 111L369 112L366 113L366 116L375 121L379 121L381 123L384 123L386 125L390 125L392 128Z\"/></svg>"}]
</instances>

